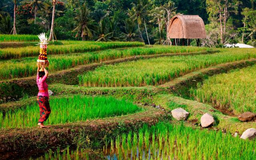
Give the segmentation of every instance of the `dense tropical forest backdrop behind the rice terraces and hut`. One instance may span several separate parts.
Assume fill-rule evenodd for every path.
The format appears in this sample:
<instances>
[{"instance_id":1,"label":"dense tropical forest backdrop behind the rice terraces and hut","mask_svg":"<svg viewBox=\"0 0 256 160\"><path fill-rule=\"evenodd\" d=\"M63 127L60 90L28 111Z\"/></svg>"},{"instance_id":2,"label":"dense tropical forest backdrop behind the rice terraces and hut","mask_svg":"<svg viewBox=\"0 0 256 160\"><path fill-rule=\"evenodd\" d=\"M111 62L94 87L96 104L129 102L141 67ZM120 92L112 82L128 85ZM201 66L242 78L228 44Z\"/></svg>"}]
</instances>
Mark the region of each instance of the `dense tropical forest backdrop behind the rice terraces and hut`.
<instances>
[{"instance_id":1,"label":"dense tropical forest backdrop behind the rice terraces and hut","mask_svg":"<svg viewBox=\"0 0 256 160\"><path fill-rule=\"evenodd\" d=\"M0 33L49 35L52 29L54 39L170 44L170 18L191 14L206 24L205 46L256 46L255 6L255 0L1 0Z\"/></svg>"}]
</instances>

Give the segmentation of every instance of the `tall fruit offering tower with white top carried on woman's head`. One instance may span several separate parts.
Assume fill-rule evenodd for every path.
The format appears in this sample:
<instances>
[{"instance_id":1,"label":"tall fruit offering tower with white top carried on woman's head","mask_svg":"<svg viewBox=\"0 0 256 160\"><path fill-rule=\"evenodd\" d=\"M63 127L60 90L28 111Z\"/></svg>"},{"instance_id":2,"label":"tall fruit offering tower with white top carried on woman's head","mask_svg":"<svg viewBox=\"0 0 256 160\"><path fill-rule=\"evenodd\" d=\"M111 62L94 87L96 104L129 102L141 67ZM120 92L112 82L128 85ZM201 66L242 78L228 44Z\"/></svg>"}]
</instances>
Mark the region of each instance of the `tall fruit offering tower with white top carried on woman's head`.
<instances>
[{"instance_id":1,"label":"tall fruit offering tower with white top carried on woman's head","mask_svg":"<svg viewBox=\"0 0 256 160\"><path fill-rule=\"evenodd\" d=\"M38 56L38 60L37 60L37 65L41 68L40 70L42 70L42 67L48 67L49 66L49 61L47 58L47 36L45 36L44 33L41 33L38 35L39 39L40 39L40 54Z\"/></svg>"}]
</instances>

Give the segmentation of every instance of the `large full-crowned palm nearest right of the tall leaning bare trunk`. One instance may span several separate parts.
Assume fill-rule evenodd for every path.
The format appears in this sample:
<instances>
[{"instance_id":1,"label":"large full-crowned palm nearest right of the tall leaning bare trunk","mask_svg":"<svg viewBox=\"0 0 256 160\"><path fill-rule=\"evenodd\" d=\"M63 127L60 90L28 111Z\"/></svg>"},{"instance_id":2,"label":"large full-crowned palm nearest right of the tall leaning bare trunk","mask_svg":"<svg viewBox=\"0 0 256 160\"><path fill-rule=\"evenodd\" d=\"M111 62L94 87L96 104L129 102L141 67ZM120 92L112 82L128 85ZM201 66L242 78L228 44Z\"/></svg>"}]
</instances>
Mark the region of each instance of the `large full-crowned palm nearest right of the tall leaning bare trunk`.
<instances>
[{"instance_id":1,"label":"large full-crowned palm nearest right of the tall leaning bare trunk","mask_svg":"<svg viewBox=\"0 0 256 160\"><path fill-rule=\"evenodd\" d=\"M73 30L73 32L76 33L76 37L79 36L82 37L82 40L85 40L85 36L88 36L88 38L92 37L92 30L91 28L93 26L93 21L90 18L90 10L87 8L86 4L84 3L78 10L76 10L76 28Z\"/></svg>"}]
</instances>

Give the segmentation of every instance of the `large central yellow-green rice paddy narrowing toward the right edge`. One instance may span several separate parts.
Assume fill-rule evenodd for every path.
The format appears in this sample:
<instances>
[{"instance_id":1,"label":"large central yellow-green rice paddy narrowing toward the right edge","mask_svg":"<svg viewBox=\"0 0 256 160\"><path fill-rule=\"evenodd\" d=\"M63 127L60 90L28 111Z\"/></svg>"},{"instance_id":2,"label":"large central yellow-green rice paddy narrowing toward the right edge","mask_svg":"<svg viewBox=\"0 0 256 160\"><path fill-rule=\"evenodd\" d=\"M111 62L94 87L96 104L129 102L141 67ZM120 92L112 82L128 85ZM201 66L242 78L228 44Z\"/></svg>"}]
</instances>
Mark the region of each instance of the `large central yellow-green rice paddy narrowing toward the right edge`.
<instances>
[{"instance_id":1,"label":"large central yellow-green rice paddy narrowing toward the right edge","mask_svg":"<svg viewBox=\"0 0 256 160\"><path fill-rule=\"evenodd\" d=\"M256 58L255 49L229 49L196 56L173 56L124 62L79 75L83 86L145 86L163 84L194 70L225 62Z\"/></svg>"}]
</instances>

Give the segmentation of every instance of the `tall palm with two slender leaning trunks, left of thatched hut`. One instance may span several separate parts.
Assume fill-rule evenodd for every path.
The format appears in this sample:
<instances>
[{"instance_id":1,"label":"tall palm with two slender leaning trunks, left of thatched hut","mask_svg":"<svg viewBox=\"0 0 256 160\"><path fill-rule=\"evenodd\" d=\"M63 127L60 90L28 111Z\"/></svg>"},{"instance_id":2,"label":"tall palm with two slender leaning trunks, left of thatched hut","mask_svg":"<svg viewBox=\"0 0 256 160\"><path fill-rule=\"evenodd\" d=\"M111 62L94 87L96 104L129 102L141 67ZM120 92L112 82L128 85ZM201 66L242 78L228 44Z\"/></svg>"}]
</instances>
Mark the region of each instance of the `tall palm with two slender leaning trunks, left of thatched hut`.
<instances>
[{"instance_id":1,"label":"tall palm with two slender leaning trunks, left of thatched hut","mask_svg":"<svg viewBox=\"0 0 256 160\"><path fill-rule=\"evenodd\" d=\"M147 7L149 5L148 0L137 0L137 3L132 3L132 11L133 15L130 17L132 19L137 20L138 22L138 30L140 32L140 37L142 38L142 33L140 31L140 25L144 23L145 30L146 30L146 35L148 38L148 30L146 27L146 16L148 15ZM143 40L143 38L142 38ZM144 40L143 40L144 41ZM148 39L148 44L150 44L149 39Z\"/></svg>"}]
</instances>

